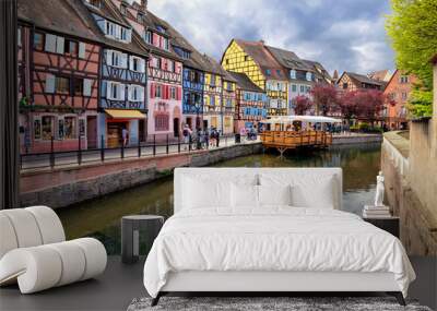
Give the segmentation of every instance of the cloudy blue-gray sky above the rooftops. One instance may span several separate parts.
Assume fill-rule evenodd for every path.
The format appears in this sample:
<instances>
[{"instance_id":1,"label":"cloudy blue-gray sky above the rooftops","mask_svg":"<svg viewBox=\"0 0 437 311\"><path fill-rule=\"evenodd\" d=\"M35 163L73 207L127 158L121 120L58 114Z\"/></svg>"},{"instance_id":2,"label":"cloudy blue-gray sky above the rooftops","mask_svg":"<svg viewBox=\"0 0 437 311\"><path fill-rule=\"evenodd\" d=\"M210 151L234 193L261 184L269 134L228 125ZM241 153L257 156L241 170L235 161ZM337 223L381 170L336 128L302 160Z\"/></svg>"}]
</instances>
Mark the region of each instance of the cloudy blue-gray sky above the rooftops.
<instances>
[{"instance_id":1,"label":"cloudy blue-gray sky above the rooftops","mask_svg":"<svg viewBox=\"0 0 437 311\"><path fill-rule=\"evenodd\" d=\"M240 38L293 50L330 73L394 67L389 0L149 0L149 9L216 59Z\"/></svg>"}]
</instances>

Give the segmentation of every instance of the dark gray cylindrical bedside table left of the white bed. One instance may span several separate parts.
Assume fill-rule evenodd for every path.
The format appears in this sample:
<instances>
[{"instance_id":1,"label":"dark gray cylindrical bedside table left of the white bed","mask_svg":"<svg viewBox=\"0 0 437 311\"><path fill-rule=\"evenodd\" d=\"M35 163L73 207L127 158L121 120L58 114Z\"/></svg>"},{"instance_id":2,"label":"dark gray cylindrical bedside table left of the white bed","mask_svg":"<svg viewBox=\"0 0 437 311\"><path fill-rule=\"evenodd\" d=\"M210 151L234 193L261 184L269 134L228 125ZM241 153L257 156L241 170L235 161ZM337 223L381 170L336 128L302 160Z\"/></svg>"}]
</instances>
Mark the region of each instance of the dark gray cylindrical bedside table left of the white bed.
<instances>
[{"instance_id":1,"label":"dark gray cylindrical bedside table left of the white bed","mask_svg":"<svg viewBox=\"0 0 437 311\"><path fill-rule=\"evenodd\" d=\"M149 254L153 241L162 226L164 217L156 215L130 215L121 218L121 261L134 263L140 255L141 246L144 247L143 254Z\"/></svg>"}]
</instances>

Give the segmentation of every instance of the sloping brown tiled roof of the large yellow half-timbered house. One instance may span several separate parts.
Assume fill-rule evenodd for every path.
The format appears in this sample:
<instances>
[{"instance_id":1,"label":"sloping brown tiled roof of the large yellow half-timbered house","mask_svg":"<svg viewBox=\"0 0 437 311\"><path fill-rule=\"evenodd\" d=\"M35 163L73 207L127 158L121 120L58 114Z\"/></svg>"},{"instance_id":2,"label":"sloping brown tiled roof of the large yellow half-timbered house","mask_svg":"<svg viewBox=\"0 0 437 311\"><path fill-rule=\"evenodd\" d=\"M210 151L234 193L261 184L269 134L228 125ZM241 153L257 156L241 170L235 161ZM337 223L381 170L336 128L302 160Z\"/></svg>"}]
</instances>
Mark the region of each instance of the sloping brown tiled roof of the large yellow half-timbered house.
<instances>
[{"instance_id":1,"label":"sloping brown tiled roof of the large yellow half-timbered house","mask_svg":"<svg viewBox=\"0 0 437 311\"><path fill-rule=\"evenodd\" d=\"M241 39L235 39L235 41L260 67L262 74L267 79L282 81L287 80L287 74L265 48L263 41L246 41ZM270 70L270 75L267 74L267 70Z\"/></svg>"}]
</instances>

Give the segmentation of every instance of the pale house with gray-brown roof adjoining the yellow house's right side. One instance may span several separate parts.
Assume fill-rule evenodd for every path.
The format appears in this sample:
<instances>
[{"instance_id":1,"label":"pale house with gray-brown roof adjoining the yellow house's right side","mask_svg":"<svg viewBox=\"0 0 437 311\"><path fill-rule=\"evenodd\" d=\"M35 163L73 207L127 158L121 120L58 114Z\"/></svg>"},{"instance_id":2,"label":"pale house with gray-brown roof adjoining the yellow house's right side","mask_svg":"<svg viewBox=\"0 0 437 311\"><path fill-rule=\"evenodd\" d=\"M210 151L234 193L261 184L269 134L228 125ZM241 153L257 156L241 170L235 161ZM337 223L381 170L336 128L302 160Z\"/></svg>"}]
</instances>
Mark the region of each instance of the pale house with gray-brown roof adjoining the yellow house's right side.
<instances>
[{"instance_id":1,"label":"pale house with gray-brown roof adjoining the yellow house's right side","mask_svg":"<svg viewBox=\"0 0 437 311\"><path fill-rule=\"evenodd\" d=\"M287 73L288 115L294 115L294 98L302 95L311 97L310 91L316 83L332 83L328 71L319 62L300 59L293 51L271 46L267 49Z\"/></svg>"}]
</instances>

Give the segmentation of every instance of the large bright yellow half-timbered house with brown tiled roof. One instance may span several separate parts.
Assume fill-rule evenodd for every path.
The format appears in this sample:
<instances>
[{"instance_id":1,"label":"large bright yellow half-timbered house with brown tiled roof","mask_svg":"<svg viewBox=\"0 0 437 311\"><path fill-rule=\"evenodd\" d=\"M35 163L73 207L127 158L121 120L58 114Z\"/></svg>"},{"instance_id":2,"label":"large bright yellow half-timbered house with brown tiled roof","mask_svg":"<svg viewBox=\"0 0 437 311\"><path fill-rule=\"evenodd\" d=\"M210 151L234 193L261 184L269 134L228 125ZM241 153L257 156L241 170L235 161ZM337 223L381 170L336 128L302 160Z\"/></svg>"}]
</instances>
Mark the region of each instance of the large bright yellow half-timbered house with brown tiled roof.
<instances>
[{"instance_id":1,"label":"large bright yellow half-timbered house with brown tiled roof","mask_svg":"<svg viewBox=\"0 0 437 311\"><path fill-rule=\"evenodd\" d=\"M287 115L288 79L264 41L233 39L222 57L225 70L245 73L269 96L268 115Z\"/></svg>"}]
</instances>

